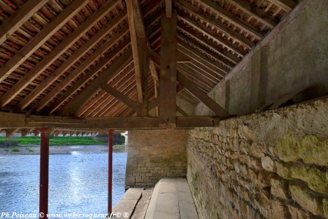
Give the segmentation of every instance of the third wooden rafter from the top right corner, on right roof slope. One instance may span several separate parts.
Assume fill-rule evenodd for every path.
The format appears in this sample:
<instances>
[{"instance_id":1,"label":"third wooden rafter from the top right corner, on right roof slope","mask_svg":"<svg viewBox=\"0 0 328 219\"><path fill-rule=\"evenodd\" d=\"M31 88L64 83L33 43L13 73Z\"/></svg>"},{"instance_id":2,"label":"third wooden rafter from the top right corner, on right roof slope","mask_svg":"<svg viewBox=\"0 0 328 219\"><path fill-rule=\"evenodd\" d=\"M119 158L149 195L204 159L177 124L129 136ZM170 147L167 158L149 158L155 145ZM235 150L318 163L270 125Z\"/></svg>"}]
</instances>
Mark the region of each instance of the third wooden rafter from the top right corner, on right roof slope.
<instances>
[{"instance_id":1,"label":"third wooden rafter from the top right corner, on right roof slope","mask_svg":"<svg viewBox=\"0 0 328 219\"><path fill-rule=\"evenodd\" d=\"M245 22L243 19L241 19L234 13L226 9L223 9L220 5L212 2L211 0L195 0L195 1L204 7L210 7L211 11L214 11L223 19L226 19L233 25L239 27L241 30L253 35L255 38L260 39L264 36L264 34L261 31L257 30L254 26Z\"/></svg>"}]
</instances>

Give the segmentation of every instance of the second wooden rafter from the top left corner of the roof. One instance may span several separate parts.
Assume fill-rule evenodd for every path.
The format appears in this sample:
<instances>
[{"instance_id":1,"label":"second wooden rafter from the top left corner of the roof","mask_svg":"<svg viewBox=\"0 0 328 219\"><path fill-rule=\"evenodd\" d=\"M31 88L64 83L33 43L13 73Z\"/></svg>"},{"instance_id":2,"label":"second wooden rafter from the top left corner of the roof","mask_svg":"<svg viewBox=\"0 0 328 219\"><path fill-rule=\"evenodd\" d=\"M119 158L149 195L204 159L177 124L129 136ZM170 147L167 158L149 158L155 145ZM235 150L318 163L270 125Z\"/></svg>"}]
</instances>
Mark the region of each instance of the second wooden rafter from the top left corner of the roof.
<instances>
[{"instance_id":1,"label":"second wooden rafter from the top left corner of the roof","mask_svg":"<svg viewBox=\"0 0 328 219\"><path fill-rule=\"evenodd\" d=\"M20 64L22 64L33 52L43 45L55 32L66 24L81 8L85 7L89 0L75 0L63 12L60 12L42 31L40 31L31 41L20 49L9 61L0 68L0 82L11 74ZM28 3L26 3L28 4Z\"/></svg>"}]
</instances>

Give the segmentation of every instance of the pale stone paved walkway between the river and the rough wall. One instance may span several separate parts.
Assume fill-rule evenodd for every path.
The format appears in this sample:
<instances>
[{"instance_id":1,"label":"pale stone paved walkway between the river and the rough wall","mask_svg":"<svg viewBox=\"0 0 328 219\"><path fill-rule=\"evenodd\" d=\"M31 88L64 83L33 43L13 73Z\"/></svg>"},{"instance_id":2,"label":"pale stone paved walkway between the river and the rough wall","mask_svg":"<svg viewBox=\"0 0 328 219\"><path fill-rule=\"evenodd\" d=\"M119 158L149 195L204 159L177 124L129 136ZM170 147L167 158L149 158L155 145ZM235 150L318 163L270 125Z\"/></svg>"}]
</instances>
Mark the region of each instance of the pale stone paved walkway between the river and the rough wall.
<instances>
[{"instance_id":1,"label":"pale stone paved walkway between the river and the rough wall","mask_svg":"<svg viewBox=\"0 0 328 219\"><path fill-rule=\"evenodd\" d=\"M198 219L186 178L162 178L153 190L131 188L113 212L131 219Z\"/></svg>"}]
</instances>

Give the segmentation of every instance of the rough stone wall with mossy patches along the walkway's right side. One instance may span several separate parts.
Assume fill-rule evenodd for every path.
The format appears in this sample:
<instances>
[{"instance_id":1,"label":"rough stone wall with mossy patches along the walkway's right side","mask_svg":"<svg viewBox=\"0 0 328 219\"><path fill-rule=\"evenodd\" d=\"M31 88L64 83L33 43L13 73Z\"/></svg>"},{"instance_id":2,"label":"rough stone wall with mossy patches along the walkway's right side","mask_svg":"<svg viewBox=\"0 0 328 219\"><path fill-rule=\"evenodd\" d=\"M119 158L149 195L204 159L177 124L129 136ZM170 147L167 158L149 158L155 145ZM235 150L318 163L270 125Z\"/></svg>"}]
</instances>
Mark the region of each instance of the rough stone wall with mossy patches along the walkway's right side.
<instances>
[{"instance_id":1,"label":"rough stone wall with mossy patches along the walkway's right side","mask_svg":"<svg viewBox=\"0 0 328 219\"><path fill-rule=\"evenodd\" d=\"M199 218L328 218L328 98L187 132Z\"/></svg>"}]
</instances>

